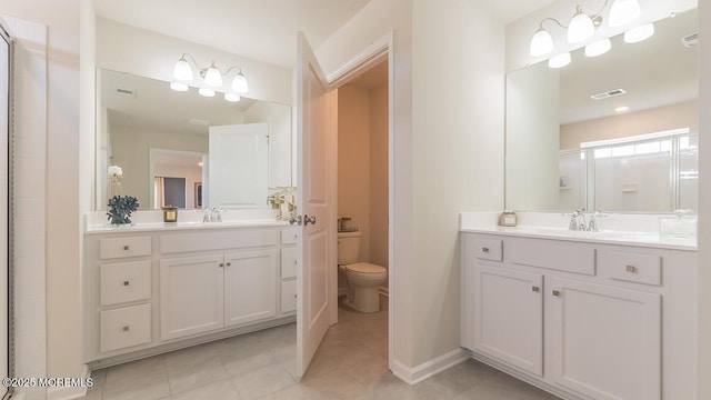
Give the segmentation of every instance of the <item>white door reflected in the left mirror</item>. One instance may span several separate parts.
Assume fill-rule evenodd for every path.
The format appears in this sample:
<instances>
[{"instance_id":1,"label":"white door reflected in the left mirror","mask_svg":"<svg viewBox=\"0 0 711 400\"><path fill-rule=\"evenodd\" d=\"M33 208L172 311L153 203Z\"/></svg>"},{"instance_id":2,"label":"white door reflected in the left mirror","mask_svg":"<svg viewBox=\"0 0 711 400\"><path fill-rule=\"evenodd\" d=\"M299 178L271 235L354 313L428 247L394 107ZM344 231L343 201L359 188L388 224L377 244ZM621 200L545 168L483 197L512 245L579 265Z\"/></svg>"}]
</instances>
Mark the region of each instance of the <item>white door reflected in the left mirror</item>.
<instances>
[{"instance_id":1,"label":"white door reflected in the left mirror","mask_svg":"<svg viewBox=\"0 0 711 400\"><path fill-rule=\"evenodd\" d=\"M241 123L210 127L209 142L208 206L267 207L269 126Z\"/></svg>"}]
</instances>

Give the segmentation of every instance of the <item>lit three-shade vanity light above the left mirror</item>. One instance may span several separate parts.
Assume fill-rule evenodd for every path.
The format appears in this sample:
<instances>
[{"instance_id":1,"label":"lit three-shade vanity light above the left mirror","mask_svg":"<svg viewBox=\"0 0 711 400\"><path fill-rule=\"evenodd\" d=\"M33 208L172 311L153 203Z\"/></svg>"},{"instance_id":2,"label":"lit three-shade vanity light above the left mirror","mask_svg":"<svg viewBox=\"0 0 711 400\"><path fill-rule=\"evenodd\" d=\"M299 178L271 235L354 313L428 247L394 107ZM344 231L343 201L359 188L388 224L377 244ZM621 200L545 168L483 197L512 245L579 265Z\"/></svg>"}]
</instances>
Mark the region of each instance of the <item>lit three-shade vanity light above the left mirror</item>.
<instances>
[{"instance_id":1,"label":"lit three-shade vanity light above the left mirror","mask_svg":"<svg viewBox=\"0 0 711 400\"><path fill-rule=\"evenodd\" d=\"M202 78L201 82L193 81L194 76L192 66L188 62L189 60L192 61L192 64L198 70L200 78ZM183 53L178 62L176 62L176 67L173 67L173 82L170 83L170 88L177 91L187 91L192 83L198 87L198 92L201 96L214 97L216 92L221 91L220 89L222 89L222 78L229 76L233 70L237 70L237 73L232 78L230 89L224 91L224 100L239 101L240 96L238 93L247 93L249 91L247 78L242 73L242 69L240 67L232 66L222 72L214 64L214 60L212 60L209 67L202 68L189 53Z\"/></svg>"}]
</instances>

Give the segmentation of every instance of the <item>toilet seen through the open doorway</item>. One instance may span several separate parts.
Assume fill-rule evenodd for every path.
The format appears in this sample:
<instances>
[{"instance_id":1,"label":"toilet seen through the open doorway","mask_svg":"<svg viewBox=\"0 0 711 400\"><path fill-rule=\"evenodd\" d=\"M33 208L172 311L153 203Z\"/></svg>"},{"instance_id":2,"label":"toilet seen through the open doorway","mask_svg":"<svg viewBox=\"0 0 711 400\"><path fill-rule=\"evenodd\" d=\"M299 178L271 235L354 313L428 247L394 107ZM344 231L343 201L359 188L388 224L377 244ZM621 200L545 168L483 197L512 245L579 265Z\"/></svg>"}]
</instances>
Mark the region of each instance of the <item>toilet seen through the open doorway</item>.
<instances>
[{"instance_id":1,"label":"toilet seen through the open doorway","mask_svg":"<svg viewBox=\"0 0 711 400\"><path fill-rule=\"evenodd\" d=\"M343 303L356 311L380 311L378 287L388 278L384 267L358 262L362 232L338 233L338 268L346 274L347 294Z\"/></svg>"}]
</instances>

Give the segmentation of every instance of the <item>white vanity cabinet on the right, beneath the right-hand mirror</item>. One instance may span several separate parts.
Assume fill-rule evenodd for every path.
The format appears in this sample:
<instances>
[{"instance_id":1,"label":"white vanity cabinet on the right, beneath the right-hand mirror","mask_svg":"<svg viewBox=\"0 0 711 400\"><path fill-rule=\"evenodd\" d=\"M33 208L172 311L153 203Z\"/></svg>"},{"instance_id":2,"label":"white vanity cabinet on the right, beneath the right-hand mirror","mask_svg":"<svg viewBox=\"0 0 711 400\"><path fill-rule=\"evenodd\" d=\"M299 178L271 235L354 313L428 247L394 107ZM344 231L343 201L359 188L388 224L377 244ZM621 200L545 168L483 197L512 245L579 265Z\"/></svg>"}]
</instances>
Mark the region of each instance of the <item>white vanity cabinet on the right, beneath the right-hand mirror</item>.
<instances>
[{"instance_id":1,"label":"white vanity cabinet on the right, beneath the right-hand mirror","mask_svg":"<svg viewBox=\"0 0 711 400\"><path fill-rule=\"evenodd\" d=\"M694 399L693 251L462 233L462 347L565 399Z\"/></svg>"}]
</instances>

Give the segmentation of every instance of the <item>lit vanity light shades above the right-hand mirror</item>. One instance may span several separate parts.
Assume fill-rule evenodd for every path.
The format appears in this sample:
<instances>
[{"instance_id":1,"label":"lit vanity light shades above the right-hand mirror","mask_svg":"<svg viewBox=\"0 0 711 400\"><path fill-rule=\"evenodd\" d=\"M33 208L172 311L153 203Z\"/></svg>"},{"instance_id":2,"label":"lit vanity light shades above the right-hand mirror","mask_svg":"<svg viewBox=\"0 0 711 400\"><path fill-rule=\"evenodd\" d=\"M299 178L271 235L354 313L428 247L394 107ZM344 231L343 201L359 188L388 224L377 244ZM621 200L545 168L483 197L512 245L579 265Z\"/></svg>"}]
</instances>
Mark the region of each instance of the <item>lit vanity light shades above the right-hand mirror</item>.
<instances>
[{"instance_id":1,"label":"lit vanity light shades above the right-hand mirror","mask_svg":"<svg viewBox=\"0 0 711 400\"><path fill-rule=\"evenodd\" d=\"M554 18L544 18L539 23L538 30L531 38L531 46L529 48L531 57L545 56L554 50L553 38L550 32L543 28L543 22L553 21L559 27L565 29L568 43L581 43L592 38L595 33L595 29L602 24L602 12L605 10L610 0L605 0L600 12L595 14L587 14L582 7L578 4L568 26L564 26ZM608 23L610 27L621 27L637 20L640 14L641 9L638 0L612 0L612 6L608 13ZM597 57L603 54L608 52L611 47L612 44L610 39L598 40L585 46L585 56ZM567 56L562 56L560 60L553 61L552 63L559 66L564 59L567 59ZM549 64L551 62L549 62ZM567 63L564 63L563 67L565 64Z\"/></svg>"}]
</instances>

